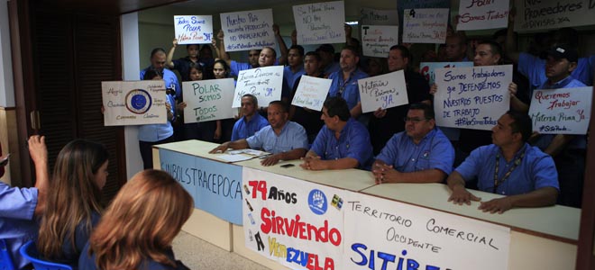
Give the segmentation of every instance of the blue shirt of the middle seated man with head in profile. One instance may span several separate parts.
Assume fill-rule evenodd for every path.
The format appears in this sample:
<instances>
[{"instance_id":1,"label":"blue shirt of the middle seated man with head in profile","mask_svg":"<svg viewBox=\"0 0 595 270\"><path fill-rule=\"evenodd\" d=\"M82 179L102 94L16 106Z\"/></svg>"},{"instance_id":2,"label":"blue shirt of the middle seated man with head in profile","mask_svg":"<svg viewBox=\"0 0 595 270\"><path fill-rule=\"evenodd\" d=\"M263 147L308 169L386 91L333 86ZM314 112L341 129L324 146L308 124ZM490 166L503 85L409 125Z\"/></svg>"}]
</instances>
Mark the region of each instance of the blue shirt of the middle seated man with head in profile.
<instances>
[{"instance_id":1,"label":"blue shirt of the middle seated man with head in profile","mask_svg":"<svg viewBox=\"0 0 595 270\"><path fill-rule=\"evenodd\" d=\"M339 139L325 125L314 139L310 149L323 160L351 157L357 159L362 169L369 169L372 160L370 133L359 121L350 118L341 130Z\"/></svg>"}]
</instances>

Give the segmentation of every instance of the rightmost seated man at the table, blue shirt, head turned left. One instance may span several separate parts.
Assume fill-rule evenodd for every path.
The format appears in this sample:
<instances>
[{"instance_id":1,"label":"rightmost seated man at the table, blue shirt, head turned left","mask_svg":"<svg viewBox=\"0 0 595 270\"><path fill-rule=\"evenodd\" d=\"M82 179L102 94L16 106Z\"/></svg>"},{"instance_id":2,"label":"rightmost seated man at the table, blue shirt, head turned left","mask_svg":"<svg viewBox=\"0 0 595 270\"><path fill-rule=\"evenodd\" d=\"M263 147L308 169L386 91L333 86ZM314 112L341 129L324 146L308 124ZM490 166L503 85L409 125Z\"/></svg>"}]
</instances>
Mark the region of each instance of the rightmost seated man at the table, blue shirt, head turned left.
<instances>
[{"instance_id":1,"label":"rightmost seated man at the table, blue shirt, head turned left","mask_svg":"<svg viewBox=\"0 0 595 270\"><path fill-rule=\"evenodd\" d=\"M446 179L453 191L448 201L481 201L465 189L465 181L477 176L481 191L507 195L481 202L482 211L502 213L514 207L554 204L559 190L554 160L526 143L531 127L526 114L508 111L502 115L492 129L493 144L473 150Z\"/></svg>"}]
</instances>

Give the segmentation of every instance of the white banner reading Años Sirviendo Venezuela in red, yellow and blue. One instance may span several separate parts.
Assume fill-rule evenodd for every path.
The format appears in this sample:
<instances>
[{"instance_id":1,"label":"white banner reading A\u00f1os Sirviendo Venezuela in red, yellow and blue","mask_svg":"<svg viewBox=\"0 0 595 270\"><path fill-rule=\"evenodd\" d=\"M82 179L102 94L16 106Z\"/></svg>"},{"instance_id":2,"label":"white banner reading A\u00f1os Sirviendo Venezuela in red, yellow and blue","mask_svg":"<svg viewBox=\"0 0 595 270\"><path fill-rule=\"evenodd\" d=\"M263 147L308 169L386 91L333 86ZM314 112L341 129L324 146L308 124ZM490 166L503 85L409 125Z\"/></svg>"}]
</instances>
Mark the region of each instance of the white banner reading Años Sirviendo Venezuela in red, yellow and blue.
<instances>
[{"instance_id":1,"label":"white banner reading A\u00f1os Sirviendo Venezuela in red, yellow and blue","mask_svg":"<svg viewBox=\"0 0 595 270\"><path fill-rule=\"evenodd\" d=\"M291 269L343 269L343 190L243 168L246 247Z\"/></svg>"}]
</instances>

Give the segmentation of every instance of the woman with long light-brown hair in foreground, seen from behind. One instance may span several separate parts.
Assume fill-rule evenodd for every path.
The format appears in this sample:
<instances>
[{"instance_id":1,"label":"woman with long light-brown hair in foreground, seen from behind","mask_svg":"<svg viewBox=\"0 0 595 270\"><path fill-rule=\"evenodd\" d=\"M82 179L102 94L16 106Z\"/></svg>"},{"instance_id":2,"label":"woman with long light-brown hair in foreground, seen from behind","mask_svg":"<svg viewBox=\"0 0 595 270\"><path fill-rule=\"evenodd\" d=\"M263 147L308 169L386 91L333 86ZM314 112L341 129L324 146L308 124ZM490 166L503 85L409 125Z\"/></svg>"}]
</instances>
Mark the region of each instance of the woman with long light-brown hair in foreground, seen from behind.
<instances>
[{"instance_id":1,"label":"woman with long light-brown hair in foreground, seen from behind","mask_svg":"<svg viewBox=\"0 0 595 270\"><path fill-rule=\"evenodd\" d=\"M89 238L80 269L188 269L171 243L193 199L169 174L144 170L124 184Z\"/></svg>"}]
</instances>

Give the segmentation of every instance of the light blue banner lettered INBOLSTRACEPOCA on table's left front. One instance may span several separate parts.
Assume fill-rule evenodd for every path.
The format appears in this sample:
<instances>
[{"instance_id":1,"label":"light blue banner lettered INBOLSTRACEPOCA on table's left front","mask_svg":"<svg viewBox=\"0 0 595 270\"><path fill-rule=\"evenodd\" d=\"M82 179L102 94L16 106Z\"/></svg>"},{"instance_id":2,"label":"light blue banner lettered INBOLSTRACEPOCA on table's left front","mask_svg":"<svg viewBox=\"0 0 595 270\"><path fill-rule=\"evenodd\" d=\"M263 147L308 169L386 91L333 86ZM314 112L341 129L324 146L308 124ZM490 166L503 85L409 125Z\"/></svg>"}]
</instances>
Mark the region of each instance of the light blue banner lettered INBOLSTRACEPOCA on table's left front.
<instances>
[{"instance_id":1,"label":"light blue banner lettered INBOLSTRACEPOCA on table's left front","mask_svg":"<svg viewBox=\"0 0 595 270\"><path fill-rule=\"evenodd\" d=\"M242 225L242 166L162 148L159 154L161 169L192 195L195 208Z\"/></svg>"}]
</instances>

